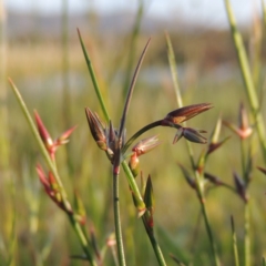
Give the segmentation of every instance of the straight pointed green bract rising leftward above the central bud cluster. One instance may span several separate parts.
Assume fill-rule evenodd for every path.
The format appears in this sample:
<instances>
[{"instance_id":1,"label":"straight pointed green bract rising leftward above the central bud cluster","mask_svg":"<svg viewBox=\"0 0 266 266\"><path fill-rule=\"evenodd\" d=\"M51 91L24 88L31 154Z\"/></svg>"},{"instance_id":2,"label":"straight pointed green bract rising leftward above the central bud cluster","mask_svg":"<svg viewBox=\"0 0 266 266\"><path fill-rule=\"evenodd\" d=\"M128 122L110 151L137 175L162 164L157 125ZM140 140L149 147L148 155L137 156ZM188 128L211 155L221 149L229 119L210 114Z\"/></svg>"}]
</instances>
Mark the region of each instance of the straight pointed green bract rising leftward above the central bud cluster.
<instances>
[{"instance_id":1,"label":"straight pointed green bract rising leftward above the central bud cluster","mask_svg":"<svg viewBox=\"0 0 266 266\"><path fill-rule=\"evenodd\" d=\"M108 110L105 108L105 104L104 104L104 101L103 101L103 96L102 96L102 93L101 93L100 88L98 85L96 76L95 76L95 73L94 73L91 60L90 60L90 58L88 55L88 52L86 52L85 45L83 43L83 40L81 38L81 33L80 33L79 29L78 29L78 34L79 34L81 48L82 48L82 51L83 51L83 54L84 54L84 58L85 58L85 61L86 61L86 65L88 65L88 69L89 69L89 72L90 72L90 75L91 75L91 79L92 79L92 83L93 83L93 86L94 86L98 100L99 100L101 109L103 111L105 121L109 122L110 121L110 116L109 116Z\"/></svg>"}]
</instances>

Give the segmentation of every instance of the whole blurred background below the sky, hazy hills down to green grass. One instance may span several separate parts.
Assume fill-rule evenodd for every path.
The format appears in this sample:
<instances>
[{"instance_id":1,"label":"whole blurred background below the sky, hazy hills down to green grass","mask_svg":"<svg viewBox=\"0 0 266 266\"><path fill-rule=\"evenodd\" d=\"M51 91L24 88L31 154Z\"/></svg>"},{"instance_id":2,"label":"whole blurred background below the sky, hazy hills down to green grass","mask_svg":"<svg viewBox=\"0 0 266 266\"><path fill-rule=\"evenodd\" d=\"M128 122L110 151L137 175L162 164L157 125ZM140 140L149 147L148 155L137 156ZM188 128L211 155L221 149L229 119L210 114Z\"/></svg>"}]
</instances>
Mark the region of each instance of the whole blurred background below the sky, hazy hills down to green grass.
<instances>
[{"instance_id":1,"label":"whole blurred background below the sky, hazy hills down to green grass","mask_svg":"<svg viewBox=\"0 0 266 266\"><path fill-rule=\"evenodd\" d=\"M137 4L136 4L137 3ZM180 18L165 21L147 14L152 2L135 2L136 8L103 16L96 10L73 13L62 1L59 13L42 14L34 7L28 12L9 10L2 3L0 54L0 265L86 265L70 255L81 247L64 215L39 184L35 164L43 163L37 143L7 82L10 76L19 88L29 110L38 110L52 137L72 125L79 125L70 143L58 152L59 172L70 198L76 190L84 202L88 228L95 228L99 247L113 233L111 166L95 145L86 123L84 108L100 111L85 60L79 43L80 29L92 59L109 112L119 125L125 91L149 37L145 55L126 121L130 137L149 122L164 117L177 108L171 78L165 30L175 52L180 85L185 105L211 102L214 109L188 122L188 126L212 132L219 116L237 123L238 106L249 109L231 32L225 27L191 23ZM224 11L223 11L224 12ZM260 8L252 12L250 23L242 24L242 33L256 76L256 41L265 61ZM187 18L186 18L187 19ZM260 35L259 35L260 34ZM264 66L257 76L258 93L264 89ZM264 104L262 104L265 114ZM266 115L266 114L265 114ZM266 117L266 116L264 116ZM254 123L252 121L252 123ZM151 174L155 194L155 229L167 256L193 257L194 265L211 265L209 244L200 204L184 180L177 162L190 167L184 140L172 145L174 130L156 129L163 143L141 158L146 177ZM222 136L232 135L222 129ZM260 150L254 141L254 166L264 166ZM197 157L205 147L192 144ZM215 152L206 171L233 183L233 171L241 173L239 141L235 135ZM121 173L121 213L129 265L156 265L145 231L136 218L131 193ZM257 265L265 249L265 176L256 168L250 185L252 250ZM223 265L233 264L231 215L235 218L239 243L244 235L244 204L232 192L219 187L207 196L211 225ZM239 244L239 253L243 246ZM8 263L10 258L10 264ZM106 252L104 265L114 265Z\"/></svg>"}]
</instances>

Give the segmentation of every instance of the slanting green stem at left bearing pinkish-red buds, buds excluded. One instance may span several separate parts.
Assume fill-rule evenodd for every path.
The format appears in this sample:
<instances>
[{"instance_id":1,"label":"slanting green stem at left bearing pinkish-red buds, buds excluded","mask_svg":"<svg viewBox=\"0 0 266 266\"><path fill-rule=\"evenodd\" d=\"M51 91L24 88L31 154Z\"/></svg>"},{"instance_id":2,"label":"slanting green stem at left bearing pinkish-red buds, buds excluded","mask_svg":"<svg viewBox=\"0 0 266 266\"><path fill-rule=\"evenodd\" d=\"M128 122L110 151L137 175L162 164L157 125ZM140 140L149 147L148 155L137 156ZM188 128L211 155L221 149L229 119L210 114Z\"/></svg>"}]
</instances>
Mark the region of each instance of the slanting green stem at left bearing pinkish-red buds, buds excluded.
<instances>
[{"instance_id":1,"label":"slanting green stem at left bearing pinkish-red buds, buds excluded","mask_svg":"<svg viewBox=\"0 0 266 266\"><path fill-rule=\"evenodd\" d=\"M33 134L33 136L34 136L34 139L35 139L35 141L37 141L37 143L39 145L39 149L40 149L40 151L41 151L41 153L42 153L42 155L43 155L43 157L44 157L44 160L45 160L45 162L48 164L48 167L51 170L51 172L52 172L52 174L53 174L53 176L54 176L54 178L55 178L55 181L57 181L57 183L59 185L59 190L60 190L61 195L62 195L63 205L68 209L69 208L69 201L68 201L68 197L66 197L66 192L65 192L65 190L63 187L63 184L61 182L61 178L60 178L60 176L58 174L54 161L52 161L52 158L50 157L50 155L49 155L49 153L48 153L48 151L47 151L47 149L45 149L45 146L44 146L40 135L39 135L39 132L38 132L35 125L34 125L34 122L31 119L30 112L29 112L29 110L28 110L28 108L27 108L27 105L25 105L25 103L24 103L24 101L23 101L19 90L17 89L17 86L14 85L14 83L12 82L11 79L9 79L9 82L10 82L11 88L13 90L13 93L14 93L14 95L16 95L19 104L20 104L20 108L21 108L21 110L22 110L22 112L23 112L23 114L24 114L24 116L25 116L25 119L27 119L27 121L29 123L31 132L32 132L32 134ZM82 229L80 227L80 224L75 221L73 215L69 215L69 218L70 218L70 222L71 222L71 224L72 224L72 226L73 226L73 228L74 228L74 231L75 231L75 233L76 233L76 235L78 235L78 237L80 239L82 248L83 248L83 250L85 252L85 254L88 256L88 259L90 260L91 265L95 266L96 264L92 259L92 255L91 255L91 253L89 250L86 237L85 237L84 233L82 232Z\"/></svg>"}]
</instances>

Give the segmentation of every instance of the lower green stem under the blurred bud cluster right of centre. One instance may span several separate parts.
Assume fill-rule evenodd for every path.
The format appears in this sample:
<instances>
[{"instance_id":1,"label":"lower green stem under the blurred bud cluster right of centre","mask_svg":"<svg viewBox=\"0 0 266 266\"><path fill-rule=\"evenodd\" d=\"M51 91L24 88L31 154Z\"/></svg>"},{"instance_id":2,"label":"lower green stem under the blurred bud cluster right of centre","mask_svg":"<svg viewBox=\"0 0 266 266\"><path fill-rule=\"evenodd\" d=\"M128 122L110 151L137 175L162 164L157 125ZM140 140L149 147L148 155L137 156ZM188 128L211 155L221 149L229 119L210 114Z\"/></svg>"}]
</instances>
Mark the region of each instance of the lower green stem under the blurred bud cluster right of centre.
<instances>
[{"instance_id":1,"label":"lower green stem under the blurred bud cluster right of centre","mask_svg":"<svg viewBox=\"0 0 266 266\"><path fill-rule=\"evenodd\" d=\"M203 195L204 180L197 172L195 172L195 174L196 174L198 200L201 203L202 214L203 214L205 227L207 231L207 235L208 235L208 239L209 239L209 244L211 244L211 248L212 248L212 256L213 256L214 265L219 266L219 259L217 256L216 245L214 243L213 233L212 233L212 228L211 228L211 224L208 221L208 215L207 215L207 211L206 211L206 206L205 206L205 198Z\"/></svg>"}]
</instances>

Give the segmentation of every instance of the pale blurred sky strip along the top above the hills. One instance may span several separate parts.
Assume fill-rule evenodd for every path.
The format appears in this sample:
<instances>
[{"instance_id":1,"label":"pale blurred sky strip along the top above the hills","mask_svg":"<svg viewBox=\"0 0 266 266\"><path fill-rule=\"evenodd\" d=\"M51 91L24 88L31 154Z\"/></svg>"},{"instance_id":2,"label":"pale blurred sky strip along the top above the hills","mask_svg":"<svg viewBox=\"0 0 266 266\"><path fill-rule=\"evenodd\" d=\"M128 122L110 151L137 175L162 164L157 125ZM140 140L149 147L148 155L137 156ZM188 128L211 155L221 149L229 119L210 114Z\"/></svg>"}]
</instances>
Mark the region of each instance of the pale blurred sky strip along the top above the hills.
<instances>
[{"instance_id":1,"label":"pale blurred sky strip along the top above the hills","mask_svg":"<svg viewBox=\"0 0 266 266\"><path fill-rule=\"evenodd\" d=\"M3 0L13 11L60 12L64 0ZM263 0L266 1L266 0ZM68 0L71 12L90 9L99 13L135 11L140 0ZM162 19L181 17L190 22L200 22L211 28L227 27L224 0L145 0L146 16ZM262 0L231 0L238 23L250 23L254 10L262 13Z\"/></svg>"}]
</instances>

